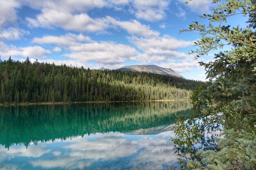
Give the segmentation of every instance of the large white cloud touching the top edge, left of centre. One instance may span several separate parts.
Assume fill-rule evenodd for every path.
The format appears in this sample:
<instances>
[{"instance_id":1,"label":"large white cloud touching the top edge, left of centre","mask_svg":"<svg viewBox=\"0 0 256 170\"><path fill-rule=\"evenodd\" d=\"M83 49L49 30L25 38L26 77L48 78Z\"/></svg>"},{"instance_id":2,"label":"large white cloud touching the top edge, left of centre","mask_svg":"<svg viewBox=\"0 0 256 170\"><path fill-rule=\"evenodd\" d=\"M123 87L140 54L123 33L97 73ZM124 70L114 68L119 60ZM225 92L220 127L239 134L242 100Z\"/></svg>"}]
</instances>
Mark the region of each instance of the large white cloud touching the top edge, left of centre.
<instances>
[{"instance_id":1,"label":"large white cloud touching the top edge, left of centre","mask_svg":"<svg viewBox=\"0 0 256 170\"><path fill-rule=\"evenodd\" d=\"M33 6L34 1L25 3ZM65 30L81 32L104 31L108 27L105 18L91 18L86 12L106 5L104 0L62 0L44 1L41 13L36 18L26 18L31 27L54 29L61 27Z\"/></svg>"}]
</instances>

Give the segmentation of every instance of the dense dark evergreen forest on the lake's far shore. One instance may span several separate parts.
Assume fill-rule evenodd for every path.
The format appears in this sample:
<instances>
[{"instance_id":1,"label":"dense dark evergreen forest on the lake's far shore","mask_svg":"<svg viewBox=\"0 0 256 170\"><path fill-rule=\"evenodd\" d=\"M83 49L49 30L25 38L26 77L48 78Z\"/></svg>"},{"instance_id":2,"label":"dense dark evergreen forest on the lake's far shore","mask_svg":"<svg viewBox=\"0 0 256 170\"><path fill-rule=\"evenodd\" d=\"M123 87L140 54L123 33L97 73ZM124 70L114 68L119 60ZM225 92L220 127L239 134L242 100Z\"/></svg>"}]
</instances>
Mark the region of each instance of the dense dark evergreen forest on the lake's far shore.
<instances>
[{"instance_id":1,"label":"dense dark evergreen forest on the lake's far shore","mask_svg":"<svg viewBox=\"0 0 256 170\"><path fill-rule=\"evenodd\" d=\"M202 82L0 59L0 103L189 99Z\"/></svg>"}]
</instances>

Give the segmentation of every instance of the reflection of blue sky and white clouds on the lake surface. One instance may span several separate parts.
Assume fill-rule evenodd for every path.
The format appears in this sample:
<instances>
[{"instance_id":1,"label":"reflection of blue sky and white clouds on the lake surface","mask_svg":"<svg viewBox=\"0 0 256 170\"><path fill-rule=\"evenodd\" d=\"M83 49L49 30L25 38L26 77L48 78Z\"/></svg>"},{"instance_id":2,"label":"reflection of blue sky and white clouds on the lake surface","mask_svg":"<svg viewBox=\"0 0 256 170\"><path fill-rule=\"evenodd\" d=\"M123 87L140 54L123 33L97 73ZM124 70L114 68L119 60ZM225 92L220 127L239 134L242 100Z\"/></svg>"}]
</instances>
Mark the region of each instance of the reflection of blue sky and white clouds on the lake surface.
<instances>
[{"instance_id":1,"label":"reflection of blue sky and white clouds on the lake surface","mask_svg":"<svg viewBox=\"0 0 256 170\"><path fill-rule=\"evenodd\" d=\"M25 146L12 146L9 151L0 147L0 162L12 163L16 162L15 159L19 159L19 157L31 157L33 159L27 159L28 161L25 163L45 169L74 170L77 168L101 169L103 167L105 169L129 167L133 170L162 169L165 163L171 163L177 159L172 155L174 150L173 144L169 141L171 136L174 136L173 131L158 135L97 133L65 141L57 139L54 141L54 145L59 147L52 152L49 149L49 147L52 148L52 142L45 142L43 145L39 143L37 146L32 145L27 149ZM42 155L44 156L41 157Z\"/></svg>"}]
</instances>

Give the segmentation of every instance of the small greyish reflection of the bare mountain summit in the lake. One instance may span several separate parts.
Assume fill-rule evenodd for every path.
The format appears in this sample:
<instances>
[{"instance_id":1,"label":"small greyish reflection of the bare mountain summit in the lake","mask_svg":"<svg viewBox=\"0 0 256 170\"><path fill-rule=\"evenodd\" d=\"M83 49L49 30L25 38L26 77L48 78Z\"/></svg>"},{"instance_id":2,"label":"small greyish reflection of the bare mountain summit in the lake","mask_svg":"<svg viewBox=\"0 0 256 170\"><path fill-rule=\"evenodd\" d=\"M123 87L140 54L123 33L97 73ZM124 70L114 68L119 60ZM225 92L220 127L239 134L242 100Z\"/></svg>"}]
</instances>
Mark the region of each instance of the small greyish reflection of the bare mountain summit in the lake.
<instances>
[{"instance_id":1,"label":"small greyish reflection of the bare mountain summit in the lake","mask_svg":"<svg viewBox=\"0 0 256 170\"><path fill-rule=\"evenodd\" d=\"M163 126L157 126L153 128L146 128L146 129L138 129L138 130L132 130L127 132L122 132L126 135L157 135L162 132L166 132L173 127L174 124L171 125L163 125Z\"/></svg>"}]
</instances>

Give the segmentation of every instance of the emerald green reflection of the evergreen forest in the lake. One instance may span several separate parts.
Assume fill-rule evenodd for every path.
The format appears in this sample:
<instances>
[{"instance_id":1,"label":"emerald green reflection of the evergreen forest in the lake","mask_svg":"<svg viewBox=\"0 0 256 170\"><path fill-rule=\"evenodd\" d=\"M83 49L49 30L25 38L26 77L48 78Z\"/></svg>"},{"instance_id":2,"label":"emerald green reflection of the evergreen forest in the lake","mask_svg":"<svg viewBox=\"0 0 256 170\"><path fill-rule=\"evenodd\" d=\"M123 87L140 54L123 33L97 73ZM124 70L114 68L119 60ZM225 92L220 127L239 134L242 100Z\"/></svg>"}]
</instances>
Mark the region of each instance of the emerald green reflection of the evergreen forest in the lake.
<instances>
[{"instance_id":1,"label":"emerald green reflection of the evergreen forest in the lake","mask_svg":"<svg viewBox=\"0 0 256 170\"><path fill-rule=\"evenodd\" d=\"M0 107L0 144L66 139L97 132L123 132L175 123L189 115L189 102L134 102Z\"/></svg>"}]
</instances>

